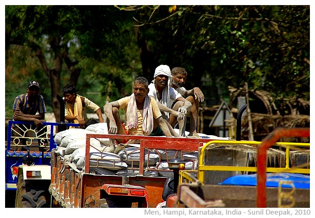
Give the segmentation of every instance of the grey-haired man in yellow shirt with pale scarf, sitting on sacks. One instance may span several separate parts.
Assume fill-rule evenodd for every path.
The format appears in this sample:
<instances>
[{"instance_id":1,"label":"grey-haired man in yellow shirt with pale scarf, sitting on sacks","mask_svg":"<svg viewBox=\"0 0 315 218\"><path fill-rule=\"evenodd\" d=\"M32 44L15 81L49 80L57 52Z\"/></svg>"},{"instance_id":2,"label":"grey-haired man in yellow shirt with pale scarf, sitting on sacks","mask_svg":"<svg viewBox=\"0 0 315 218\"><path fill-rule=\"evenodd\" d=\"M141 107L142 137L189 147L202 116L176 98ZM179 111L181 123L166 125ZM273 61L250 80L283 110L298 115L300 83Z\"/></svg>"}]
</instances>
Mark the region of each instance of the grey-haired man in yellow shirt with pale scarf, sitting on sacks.
<instances>
[{"instance_id":1,"label":"grey-haired man in yellow shirt with pale scarf, sitting on sacks","mask_svg":"<svg viewBox=\"0 0 315 218\"><path fill-rule=\"evenodd\" d=\"M108 133L171 137L172 134L162 118L159 106L154 99L148 96L148 80L138 77L134 81L133 92L131 96L104 105ZM124 110L124 123L121 122L119 109ZM116 139L116 141L118 143L126 142L122 139Z\"/></svg>"}]
</instances>

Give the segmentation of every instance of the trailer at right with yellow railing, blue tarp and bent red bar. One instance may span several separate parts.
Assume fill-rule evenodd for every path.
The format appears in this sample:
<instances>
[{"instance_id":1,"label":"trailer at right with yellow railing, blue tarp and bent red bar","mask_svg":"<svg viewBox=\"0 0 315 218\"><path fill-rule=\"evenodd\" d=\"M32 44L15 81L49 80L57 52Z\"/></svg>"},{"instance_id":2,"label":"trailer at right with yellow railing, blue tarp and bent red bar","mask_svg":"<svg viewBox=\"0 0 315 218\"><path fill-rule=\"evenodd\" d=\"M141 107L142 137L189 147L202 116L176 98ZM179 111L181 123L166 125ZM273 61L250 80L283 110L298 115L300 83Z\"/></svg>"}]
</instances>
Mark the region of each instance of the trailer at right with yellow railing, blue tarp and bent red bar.
<instances>
[{"instance_id":1,"label":"trailer at right with yellow railing, blue tarp and bent red bar","mask_svg":"<svg viewBox=\"0 0 315 218\"><path fill-rule=\"evenodd\" d=\"M178 189L168 196L166 207L310 207L309 143L277 142L281 137L309 138L309 135L309 128L278 128L262 142L214 140L206 143L199 148L198 170L179 170ZM213 159L211 153L215 148L245 145L256 153L254 167L225 166L209 161ZM268 157L272 146L285 148L282 164L279 164L281 158L271 160ZM293 153L296 150L305 151L306 158L295 165ZM272 161L279 166L270 167ZM209 176L217 171L240 174L209 184Z\"/></svg>"}]
</instances>

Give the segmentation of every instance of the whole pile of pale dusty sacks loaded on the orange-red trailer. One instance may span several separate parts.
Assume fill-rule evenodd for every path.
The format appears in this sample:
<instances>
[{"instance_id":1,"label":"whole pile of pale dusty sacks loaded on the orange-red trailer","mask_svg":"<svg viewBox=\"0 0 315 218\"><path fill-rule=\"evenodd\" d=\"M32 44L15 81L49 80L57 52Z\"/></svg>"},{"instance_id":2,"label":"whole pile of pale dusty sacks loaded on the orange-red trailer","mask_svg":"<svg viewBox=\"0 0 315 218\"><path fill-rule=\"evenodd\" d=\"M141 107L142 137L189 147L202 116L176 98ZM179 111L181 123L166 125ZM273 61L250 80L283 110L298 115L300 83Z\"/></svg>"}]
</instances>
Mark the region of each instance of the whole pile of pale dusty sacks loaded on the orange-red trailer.
<instances>
[{"instance_id":1,"label":"whole pile of pale dusty sacks loaded on the orange-red trailer","mask_svg":"<svg viewBox=\"0 0 315 218\"><path fill-rule=\"evenodd\" d=\"M86 129L65 130L57 133L54 138L55 143L58 144L56 153L71 159L80 170L85 166L86 134L108 134L107 123L91 124ZM215 136L202 135L201 137L214 138ZM90 145L89 171L91 173L124 176L139 174L139 144L121 147L111 144L108 138L91 138ZM187 170L197 169L198 151L145 149L144 176L173 176L173 172L168 168L168 161L174 158L184 160Z\"/></svg>"}]
</instances>

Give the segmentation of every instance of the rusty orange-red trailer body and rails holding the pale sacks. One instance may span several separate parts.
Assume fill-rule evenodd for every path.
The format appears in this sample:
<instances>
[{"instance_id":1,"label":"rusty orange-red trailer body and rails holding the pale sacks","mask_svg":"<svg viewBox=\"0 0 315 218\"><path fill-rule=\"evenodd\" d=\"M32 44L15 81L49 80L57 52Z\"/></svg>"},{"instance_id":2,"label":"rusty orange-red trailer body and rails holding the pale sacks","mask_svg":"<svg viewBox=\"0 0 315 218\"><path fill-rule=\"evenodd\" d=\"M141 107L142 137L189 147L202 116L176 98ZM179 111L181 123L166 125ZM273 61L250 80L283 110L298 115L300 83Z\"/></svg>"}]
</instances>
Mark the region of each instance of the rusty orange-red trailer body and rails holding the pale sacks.
<instances>
[{"instance_id":1,"label":"rusty orange-red trailer body and rails holding the pale sacks","mask_svg":"<svg viewBox=\"0 0 315 218\"><path fill-rule=\"evenodd\" d=\"M102 159L91 158L92 139L129 139L138 141L139 160L130 161L127 170L136 172L133 175L100 175L91 173L91 167L104 168ZM155 166L149 166L150 152L176 150L175 157L183 158L184 152L198 152L209 139L151 137L130 135L86 134L85 165L78 167L65 157L51 152L51 183L49 192L52 196L52 207L156 207L162 199L165 182L168 177L148 176L149 171L173 173L171 169L158 169L161 154ZM101 151L100 151L101 152ZM102 153L102 152L101 152ZM113 168L120 161L113 160ZM110 169L110 167L106 167Z\"/></svg>"}]
</instances>

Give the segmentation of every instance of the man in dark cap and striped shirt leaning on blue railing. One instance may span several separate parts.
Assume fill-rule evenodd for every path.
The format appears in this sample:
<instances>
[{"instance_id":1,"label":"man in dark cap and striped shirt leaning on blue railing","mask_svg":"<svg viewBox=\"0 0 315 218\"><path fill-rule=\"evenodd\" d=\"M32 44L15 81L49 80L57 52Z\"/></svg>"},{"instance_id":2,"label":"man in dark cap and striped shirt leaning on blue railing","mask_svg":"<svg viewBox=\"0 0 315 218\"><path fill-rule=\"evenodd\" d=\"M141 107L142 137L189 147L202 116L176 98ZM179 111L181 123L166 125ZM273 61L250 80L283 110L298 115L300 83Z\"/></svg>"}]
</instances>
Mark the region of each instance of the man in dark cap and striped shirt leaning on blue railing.
<instances>
[{"instance_id":1,"label":"man in dark cap and striped shirt leaning on blue railing","mask_svg":"<svg viewBox=\"0 0 315 218\"><path fill-rule=\"evenodd\" d=\"M40 86L36 81L28 82L27 93L19 95L15 98L13 104L13 119L16 121L31 121L34 122L36 127L40 128L42 122L45 122L46 106L43 96L39 95ZM23 129L23 126L20 128ZM32 129L35 129L33 125ZM20 129L14 128L14 135L19 135ZM25 128L24 128L25 129ZM40 132L37 134L38 138L45 138L46 128L41 128ZM24 139L25 141L25 139Z\"/></svg>"}]
</instances>

